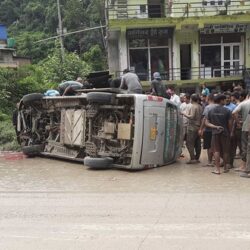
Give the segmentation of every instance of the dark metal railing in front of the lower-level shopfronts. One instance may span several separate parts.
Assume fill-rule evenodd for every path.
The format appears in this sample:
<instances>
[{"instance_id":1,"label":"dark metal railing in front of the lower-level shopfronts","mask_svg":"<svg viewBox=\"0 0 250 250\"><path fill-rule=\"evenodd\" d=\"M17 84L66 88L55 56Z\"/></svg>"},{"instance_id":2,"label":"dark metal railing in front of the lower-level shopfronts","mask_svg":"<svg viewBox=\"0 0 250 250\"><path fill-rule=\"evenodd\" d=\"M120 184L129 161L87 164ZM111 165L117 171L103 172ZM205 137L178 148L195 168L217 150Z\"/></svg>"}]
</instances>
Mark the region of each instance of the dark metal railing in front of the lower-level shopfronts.
<instances>
[{"instance_id":1,"label":"dark metal railing in front of the lower-level shopfronts","mask_svg":"<svg viewBox=\"0 0 250 250\"><path fill-rule=\"evenodd\" d=\"M172 68L165 72L161 72L162 80L179 81L179 80L199 80L213 78L232 78L243 77L245 67L243 65L237 67L193 67L193 68ZM154 72L144 71L135 72L141 81L151 81ZM116 77L122 76L122 72L117 71Z\"/></svg>"}]
</instances>

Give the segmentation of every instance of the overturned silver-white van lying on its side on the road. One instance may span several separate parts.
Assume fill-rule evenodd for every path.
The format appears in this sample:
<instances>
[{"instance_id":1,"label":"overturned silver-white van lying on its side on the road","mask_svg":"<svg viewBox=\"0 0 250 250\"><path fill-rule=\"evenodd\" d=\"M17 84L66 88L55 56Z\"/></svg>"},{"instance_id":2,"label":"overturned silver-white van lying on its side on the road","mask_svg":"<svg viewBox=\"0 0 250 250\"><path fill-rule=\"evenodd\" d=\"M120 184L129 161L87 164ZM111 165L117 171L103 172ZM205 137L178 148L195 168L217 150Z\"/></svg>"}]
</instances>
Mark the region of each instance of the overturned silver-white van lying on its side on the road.
<instances>
[{"instance_id":1,"label":"overturned silver-white van lying on its side on the road","mask_svg":"<svg viewBox=\"0 0 250 250\"><path fill-rule=\"evenodd\" d=\"M176 161L181 126L177 106L167 99L98 89L76 96L26 95L16 129L27 155L138 170Z\"/></svg>"}]
</instances>

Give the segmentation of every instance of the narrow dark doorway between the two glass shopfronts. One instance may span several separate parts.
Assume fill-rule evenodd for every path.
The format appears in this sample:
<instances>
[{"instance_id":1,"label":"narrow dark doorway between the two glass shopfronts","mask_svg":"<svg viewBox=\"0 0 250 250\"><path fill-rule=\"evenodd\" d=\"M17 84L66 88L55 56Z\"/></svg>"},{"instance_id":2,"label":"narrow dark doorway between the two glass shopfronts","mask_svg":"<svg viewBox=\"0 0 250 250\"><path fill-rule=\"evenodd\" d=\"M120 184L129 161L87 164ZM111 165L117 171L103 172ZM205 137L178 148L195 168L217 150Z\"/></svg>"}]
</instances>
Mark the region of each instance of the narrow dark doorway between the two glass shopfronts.
<instances>
[{"instance_id":1,"label":"narrow dark doorway between the two glass shopfronts","mask_svg":"<svg viewBox=\"0 0 250 250\"><path fill-rule=\"evenodd\" d=\"M191 44L180 45L181 80L191 79Z\"/></svg>"}]
</instances>

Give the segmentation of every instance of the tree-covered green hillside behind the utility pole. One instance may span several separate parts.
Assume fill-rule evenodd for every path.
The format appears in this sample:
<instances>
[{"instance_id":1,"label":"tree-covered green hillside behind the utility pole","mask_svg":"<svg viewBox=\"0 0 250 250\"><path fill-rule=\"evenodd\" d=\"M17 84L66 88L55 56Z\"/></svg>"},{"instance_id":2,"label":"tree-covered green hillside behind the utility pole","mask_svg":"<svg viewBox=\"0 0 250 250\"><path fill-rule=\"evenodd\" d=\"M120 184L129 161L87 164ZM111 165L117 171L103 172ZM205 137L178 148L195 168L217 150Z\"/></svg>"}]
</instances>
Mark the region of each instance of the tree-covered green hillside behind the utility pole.
<instances>
[{"instance_id":1,"label":"tree-covered green hillside behind the utility pole","mask_svg":"<svg viewBox=\"0 0 250 250\"><path fill-rule=\"evenodd\" d=\"M63 28L76 31L104 23L103 0L60 0ZM9 36L15 38L17 53L33 62L46 58L54 48L54 40L36 41L57 35L58 11L56 0L2 0L0 23L8 27ZM82 55L93 45L103 47L101 30L68 36L64 46L69 52Z\"/></svg>"}]
</instances>

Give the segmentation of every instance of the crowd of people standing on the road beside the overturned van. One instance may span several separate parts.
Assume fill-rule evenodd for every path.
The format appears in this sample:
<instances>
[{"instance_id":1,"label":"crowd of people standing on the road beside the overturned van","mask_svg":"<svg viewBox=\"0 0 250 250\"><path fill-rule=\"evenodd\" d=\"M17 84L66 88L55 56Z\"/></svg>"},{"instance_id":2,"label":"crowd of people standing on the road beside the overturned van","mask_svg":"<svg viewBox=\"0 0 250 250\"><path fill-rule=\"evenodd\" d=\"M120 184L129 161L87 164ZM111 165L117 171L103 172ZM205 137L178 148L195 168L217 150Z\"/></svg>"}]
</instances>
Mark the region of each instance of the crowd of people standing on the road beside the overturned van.
<instances>
[{"instance_id":1,"label":"crowd of people standing on the road beside the overturned van","mask_svg":"<svg viewBox=\"0 0 250 250\"><path fill-rule=\"evenodd\" d=\"M183 131L190 155L187 164L199 163L201 140L207 151L207 164L213 174L230 169L250 178L250 92L242 88L217 92L205 86L200 95L181 94ZM236 153L239 152L238 155ZM235 158L241 165L235 167Z\"/></svg>"}]
</instances>

